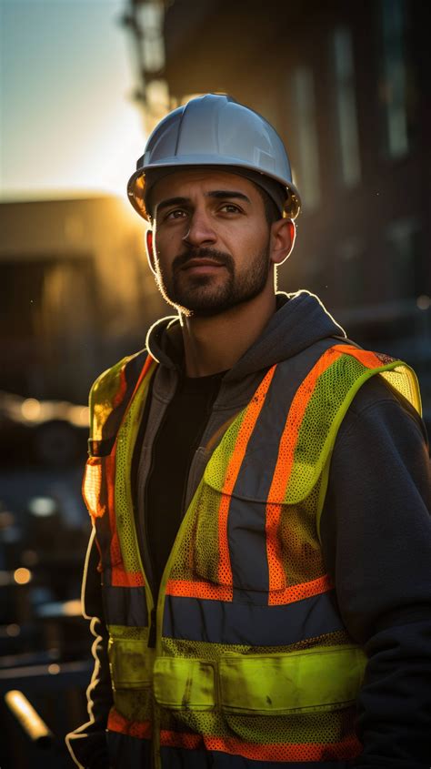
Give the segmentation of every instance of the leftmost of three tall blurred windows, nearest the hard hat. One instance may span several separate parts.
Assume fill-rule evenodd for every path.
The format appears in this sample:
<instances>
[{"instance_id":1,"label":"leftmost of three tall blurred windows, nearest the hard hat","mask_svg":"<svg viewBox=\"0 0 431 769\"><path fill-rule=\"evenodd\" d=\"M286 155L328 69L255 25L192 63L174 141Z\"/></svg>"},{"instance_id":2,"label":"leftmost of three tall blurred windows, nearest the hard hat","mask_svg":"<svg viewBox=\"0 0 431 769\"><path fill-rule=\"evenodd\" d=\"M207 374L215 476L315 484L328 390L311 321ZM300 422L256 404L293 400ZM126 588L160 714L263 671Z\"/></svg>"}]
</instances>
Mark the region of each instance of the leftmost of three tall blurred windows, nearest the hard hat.
<instances>
[{"instance_id":1,"label":"leftmost of three tall blurred windows, nearest the hard hat","mask_svg":"<svg viewBox=\"0 0 431 769\"><path fill-rule=\"evenodd\" d=\"M294 70L293 97L299 161L297 181L304 207L310 210L320 203L315 85L310 67L300 66Z\"/></svg>"}]
</instances>

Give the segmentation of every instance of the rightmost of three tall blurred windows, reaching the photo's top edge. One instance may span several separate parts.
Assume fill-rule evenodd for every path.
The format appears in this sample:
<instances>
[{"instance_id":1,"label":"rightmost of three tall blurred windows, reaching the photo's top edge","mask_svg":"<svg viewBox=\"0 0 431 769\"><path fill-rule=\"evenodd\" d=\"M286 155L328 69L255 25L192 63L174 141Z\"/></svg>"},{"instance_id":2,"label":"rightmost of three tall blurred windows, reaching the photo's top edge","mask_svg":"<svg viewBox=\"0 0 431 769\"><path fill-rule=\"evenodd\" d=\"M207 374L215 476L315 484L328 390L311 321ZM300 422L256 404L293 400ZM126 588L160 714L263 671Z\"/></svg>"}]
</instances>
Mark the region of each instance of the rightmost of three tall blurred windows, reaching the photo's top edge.
<instances>
[{"instance_id":1,"label":"rightmost of three tall blurred windows, reaching the photo's top edge","mask_svg":"<svg viewBox=\"0 0 431 769\"><path fill-rule=\"evenodd\" d=\"M391 157L409 149L406 110L405 2L381 0L386 147Z\"/></svg>"}]
</instances>

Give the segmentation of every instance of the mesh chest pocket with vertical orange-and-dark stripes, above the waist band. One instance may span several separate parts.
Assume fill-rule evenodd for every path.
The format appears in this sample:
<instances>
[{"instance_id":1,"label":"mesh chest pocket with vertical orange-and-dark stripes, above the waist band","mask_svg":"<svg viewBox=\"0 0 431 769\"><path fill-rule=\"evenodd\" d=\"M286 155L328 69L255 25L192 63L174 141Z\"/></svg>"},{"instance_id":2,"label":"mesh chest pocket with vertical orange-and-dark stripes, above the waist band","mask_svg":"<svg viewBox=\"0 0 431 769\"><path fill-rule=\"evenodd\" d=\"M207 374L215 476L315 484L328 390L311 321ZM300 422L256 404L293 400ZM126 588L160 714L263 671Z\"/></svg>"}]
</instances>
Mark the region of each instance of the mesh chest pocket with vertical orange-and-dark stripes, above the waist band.
<instances>
[{"instance_id":1,"label":"mesh chest pocket with vertical orange-and-dark stripes, above the waist band","mask_svg":"<svg viewBox=\"0 0 431 769\"><path fill-rule=\"evenodd\" d=\"M262 490L253 499L226 493L210 481L205 471L172 578L236 590L237 602L281 604L314 594L313 585L303 585L326 576L316 531L319 485L306 500L288 504L267 501Z\"/></svg>"}]
</instances>

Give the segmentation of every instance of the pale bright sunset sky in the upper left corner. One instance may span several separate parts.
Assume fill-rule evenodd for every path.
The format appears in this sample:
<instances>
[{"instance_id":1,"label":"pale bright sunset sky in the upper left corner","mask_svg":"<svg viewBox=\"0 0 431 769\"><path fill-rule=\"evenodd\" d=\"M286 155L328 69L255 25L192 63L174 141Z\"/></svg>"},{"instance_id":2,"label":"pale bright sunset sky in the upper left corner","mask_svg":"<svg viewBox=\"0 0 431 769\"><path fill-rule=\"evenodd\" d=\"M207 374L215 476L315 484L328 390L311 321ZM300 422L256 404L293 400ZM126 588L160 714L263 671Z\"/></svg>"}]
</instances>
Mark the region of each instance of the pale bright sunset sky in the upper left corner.
<instances>
[{"instance_id":1,"label":"pale bright sunset sky in the upper left corner","mask_svg":"<svg viewBox=\"0 0 431 769\"><path fill-rule=\"evenodd\" d=\"M142 154L126 0L0 0L1 196L124 194Z\"/></svg>"}]
</instances>

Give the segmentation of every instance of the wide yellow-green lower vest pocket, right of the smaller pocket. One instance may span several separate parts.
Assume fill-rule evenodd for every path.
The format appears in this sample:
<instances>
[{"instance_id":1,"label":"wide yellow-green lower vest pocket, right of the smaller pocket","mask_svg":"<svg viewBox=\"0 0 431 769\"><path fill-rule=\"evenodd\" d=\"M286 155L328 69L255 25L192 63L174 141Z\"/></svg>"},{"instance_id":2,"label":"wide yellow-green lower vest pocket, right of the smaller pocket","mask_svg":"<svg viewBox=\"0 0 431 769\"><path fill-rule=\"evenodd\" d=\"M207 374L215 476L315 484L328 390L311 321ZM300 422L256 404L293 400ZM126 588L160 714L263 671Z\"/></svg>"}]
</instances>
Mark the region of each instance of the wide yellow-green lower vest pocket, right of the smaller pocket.
<instances>
[{"instance_id":1,"label":"wide yellow-green lower vest pocket, right of the smaller pocket","mask_svg":"<svg viewBox=\"0 0 431 769\"><path fill-rule=\"evenodd\" d=\"M226 654L219 663L226 730L239 744L265 745L269 761L344 765L338 762L362 750L355 720L364 667L365 655L354 646Z\"/></svg>"}]
</instances>

